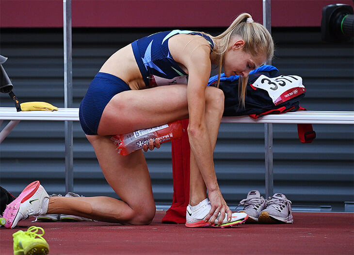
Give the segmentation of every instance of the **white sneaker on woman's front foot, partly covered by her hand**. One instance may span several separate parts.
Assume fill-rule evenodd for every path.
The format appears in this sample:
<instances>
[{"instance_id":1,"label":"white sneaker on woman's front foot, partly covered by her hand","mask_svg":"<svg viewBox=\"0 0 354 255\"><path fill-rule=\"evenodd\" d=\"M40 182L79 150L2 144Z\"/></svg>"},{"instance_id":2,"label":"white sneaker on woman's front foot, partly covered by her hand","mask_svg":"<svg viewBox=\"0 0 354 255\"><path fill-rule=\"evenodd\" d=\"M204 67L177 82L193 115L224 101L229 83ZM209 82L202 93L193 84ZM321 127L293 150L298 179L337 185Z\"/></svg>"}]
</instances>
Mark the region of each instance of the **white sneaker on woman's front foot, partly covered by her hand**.
<instances>
[{"instance_id":1,"label":"white sneaker on woman's front foot, partly covered by her hand","mask_svg":"<svg viewBox=\"0 0 354 255\"><path fill-rule=\"evenodd\" d=\"M186 226L187 227L231 227L236 224L241 224L248 219L248 215L245 213L232 213L231 221L227 221L227 215L225 214L225 218L222 221L222 224L219 226L219 216L216 218L212 225L209 225L209 222L205 222L205 218L207 217L209 211L211 209L211 205L209 199L206 198L196 206L191 206L188 204L187 213L186 213Z\"/></svg>"}]
</instances>

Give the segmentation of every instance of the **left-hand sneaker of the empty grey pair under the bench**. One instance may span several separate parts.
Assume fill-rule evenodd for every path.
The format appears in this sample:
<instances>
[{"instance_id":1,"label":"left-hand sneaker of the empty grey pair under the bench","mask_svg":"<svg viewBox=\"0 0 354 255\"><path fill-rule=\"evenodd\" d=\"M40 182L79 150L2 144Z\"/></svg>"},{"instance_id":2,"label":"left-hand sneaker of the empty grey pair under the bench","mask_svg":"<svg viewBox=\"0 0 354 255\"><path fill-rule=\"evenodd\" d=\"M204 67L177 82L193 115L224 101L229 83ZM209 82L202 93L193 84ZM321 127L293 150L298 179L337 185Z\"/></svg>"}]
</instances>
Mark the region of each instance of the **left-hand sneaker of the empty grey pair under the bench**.
<instances>
[{"instance_id":1,"label":"left-hand sneaker of the empty grey pair under the bench","mask_svg":"<svg viewBox=\"0 0 354 255\"><path fill-rule=\"evenodd\" d=\"M247 198L241 200L240 205L243 205L243 210L239 212L244 212L248 215L248 220L246 223L256 223L258 222L258 217L260 212L265 209L266 200L260 196L258 190L251 190L247 194ZM237 208L236 207L236 208Z\"/></svg>"}]
</instances>

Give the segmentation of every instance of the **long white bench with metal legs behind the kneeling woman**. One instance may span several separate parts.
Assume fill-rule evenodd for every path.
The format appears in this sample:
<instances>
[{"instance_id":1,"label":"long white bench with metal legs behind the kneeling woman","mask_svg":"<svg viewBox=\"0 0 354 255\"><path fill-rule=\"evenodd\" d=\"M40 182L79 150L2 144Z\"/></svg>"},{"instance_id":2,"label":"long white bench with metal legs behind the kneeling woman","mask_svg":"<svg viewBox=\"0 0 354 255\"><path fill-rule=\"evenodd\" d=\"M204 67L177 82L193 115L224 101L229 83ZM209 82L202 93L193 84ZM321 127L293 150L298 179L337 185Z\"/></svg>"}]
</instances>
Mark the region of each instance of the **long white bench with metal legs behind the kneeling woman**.
<instances>
[{"instance_id":1,"label":"long white bench with metal legs behind the kneeling woman","mask_svg":"<svg viewBox=\"0 0 354 255\"><path fill-rule=\"evenodd\" d=\"M78 121L78 108L59 108L58 111L16 112L15 107L0 107L0 124L9 123L0 132L0 143L21 120L60 120ZM354 111L298 111L284 114L266 115L258 119L249 116L224 117L222 123L264 123L265 124L265 186L266 197L273 194L273 123L283 124L354 124ZM66 133L65 133L66 134ZM66 147L65 147L66 150ZM71 148L72 150L72 148ZM72 152L65 152L65 157L72 157ZM68 160L68 159L66 159ZM72 158L69 159L72 162ZM72 167L65 167L65 182L72 187ZM72 191L72 190L68 190Z\"/></svg>"}]
</instances>

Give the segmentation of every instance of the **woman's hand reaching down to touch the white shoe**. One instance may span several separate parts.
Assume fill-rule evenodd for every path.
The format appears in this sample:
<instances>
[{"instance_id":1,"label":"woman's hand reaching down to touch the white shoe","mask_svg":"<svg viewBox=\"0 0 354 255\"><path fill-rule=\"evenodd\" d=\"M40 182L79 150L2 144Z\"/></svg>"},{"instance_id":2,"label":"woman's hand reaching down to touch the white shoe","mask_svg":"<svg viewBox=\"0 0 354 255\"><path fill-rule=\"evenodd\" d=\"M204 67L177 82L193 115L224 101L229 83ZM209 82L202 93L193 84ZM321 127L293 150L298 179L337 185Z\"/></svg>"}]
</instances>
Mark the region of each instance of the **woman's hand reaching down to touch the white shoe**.
<instances>
[{"instance_id":1,"label":"woman's hand reaching down to touch the white shoe","mask_svg":"<svg viewBox=\"0 0 354 255\"><path fill-rule=\"evenodd\" d=\"M227 220L231 221L232 211L227 206L223 195L221 194L220 189L208 192L209 201L211 205L211 209L207 215L206 221L209 221L209 225L212 225L216 218L219 216L218 225L220 226L225 218L225 214L227 214Z\"/></svg>"}]
</instances>

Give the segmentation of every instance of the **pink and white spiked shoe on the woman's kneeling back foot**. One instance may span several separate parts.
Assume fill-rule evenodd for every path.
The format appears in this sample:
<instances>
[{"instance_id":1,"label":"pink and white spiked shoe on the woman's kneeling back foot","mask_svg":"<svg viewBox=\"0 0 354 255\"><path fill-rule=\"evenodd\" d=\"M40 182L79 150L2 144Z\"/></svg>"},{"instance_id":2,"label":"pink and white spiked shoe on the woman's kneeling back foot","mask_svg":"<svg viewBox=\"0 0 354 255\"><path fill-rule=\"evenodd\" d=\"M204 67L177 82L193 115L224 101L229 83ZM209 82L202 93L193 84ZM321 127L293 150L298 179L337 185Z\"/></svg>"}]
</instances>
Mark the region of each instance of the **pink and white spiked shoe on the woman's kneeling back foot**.
<instances>
[{"instance_id":1,"label":"pink and white spiked shoe on the woman's kneeling back foot","mask_svg":"<svg viewBox=\"0 0 354 255\"><path fill-rule=\"evenodd\" d=\"M3 218L6 219L4 226L14 228L18 221L45 214L48 209L48 203L43 204L45 198L49 196L39 181L29 184L13 202L6 206L3 214Z\"/></svg>"}]
</instances>

